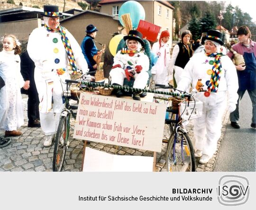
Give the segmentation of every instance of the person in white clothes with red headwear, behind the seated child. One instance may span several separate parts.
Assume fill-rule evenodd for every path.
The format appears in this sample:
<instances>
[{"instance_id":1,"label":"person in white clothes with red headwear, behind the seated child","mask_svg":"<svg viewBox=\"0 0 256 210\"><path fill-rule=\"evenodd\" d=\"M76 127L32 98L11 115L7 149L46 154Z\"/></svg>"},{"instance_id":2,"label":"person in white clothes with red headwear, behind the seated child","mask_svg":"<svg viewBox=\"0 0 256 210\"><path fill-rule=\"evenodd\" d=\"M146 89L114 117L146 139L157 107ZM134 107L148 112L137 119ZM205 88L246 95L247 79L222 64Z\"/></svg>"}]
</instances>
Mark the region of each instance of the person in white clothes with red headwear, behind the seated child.
<instances>
[{"instance_id":1,"label":"person in white clothes with red headwear, behind the seated child","mask_svg":"<svg viewBox=\"0 0 256 210\"><path fill-rule=\"evenodd\" d=\"M157 84L168 85L169 80L171 80L169 38L170 33L163 31L160 35L159 42L154 43L152 46L152 52L158 56L155 66L151 69L152 80ZM166 90L164 89L163 91Z\"/></svg>"}]
</instances>

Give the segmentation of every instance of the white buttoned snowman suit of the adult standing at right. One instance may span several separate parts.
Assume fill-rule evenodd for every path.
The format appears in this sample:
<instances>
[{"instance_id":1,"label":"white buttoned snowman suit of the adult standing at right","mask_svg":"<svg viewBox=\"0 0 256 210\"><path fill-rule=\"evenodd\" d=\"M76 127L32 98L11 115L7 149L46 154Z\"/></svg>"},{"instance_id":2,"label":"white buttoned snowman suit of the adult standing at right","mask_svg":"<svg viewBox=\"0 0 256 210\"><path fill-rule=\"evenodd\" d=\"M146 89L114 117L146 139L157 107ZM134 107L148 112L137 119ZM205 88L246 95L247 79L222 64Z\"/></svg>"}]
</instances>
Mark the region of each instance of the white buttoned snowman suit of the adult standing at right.
<instances>
[{"instance_id":1,"label":"white buttoned snowman suit of the adult standing at right","mask_svg":"<svg viewBox=\"0 0 256 210\"><path fill-rule=\"evenodd\" d=\"M192 88L196 88L198 80L201 79L201 83L204 85L203 89L209 90L196 94L196 98L203 102L203 114L200 118L193 120L195 151L200 150L202 154L209 157L212 157L217 149L226 103L228 102L228 110L232 112L238 100L236 68L226 55L220 57L220 63L220 79L217 82L219 85L215 87L217 91L214 92L209 88L215 57L209 57L205 52L196 53L192 56L184 68L181 81L177 87L178 90L186 90L192 84Z\"/></svg>"}]
</instances>

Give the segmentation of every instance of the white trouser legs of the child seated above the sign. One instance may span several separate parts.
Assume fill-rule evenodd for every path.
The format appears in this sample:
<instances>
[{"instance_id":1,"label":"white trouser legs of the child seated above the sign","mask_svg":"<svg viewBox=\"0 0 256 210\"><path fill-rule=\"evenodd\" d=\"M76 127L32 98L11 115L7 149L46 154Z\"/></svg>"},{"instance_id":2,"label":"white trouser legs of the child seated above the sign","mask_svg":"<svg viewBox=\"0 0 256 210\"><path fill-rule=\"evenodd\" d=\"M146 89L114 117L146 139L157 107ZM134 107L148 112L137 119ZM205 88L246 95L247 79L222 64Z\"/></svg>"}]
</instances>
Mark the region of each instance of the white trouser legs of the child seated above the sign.
<instances>
[{"instance_id":1,"label":"white trouser legs of the child seated above the sign","mask_svg":"<svg viewBox=\"0 0 256 210\"><path fill-rule=\"evenodd\" d=\"M126 78L125 71L122 68L115 68L110 71L111 84L117 83L121 86L124 84ZM149 75L146 71L141 71L139 74L134 75L135 81L133 83L134 88L145 88Z\"/></svg>"}]
</instances>

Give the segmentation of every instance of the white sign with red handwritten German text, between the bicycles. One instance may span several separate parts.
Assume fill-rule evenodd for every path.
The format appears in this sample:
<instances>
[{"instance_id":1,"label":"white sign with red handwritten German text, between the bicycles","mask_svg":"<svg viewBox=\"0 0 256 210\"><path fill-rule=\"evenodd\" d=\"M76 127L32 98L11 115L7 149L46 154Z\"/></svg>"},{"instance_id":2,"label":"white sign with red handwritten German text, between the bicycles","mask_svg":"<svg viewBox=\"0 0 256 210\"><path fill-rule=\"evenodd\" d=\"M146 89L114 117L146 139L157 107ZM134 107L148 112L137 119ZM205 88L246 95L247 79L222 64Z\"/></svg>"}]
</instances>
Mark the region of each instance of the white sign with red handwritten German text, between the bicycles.
<instances>
[{"instance_id":1,"label":"white sign with red handwritten German text, between the bicycles","mask_svg":"<svg viewBox=\"0 0 256 210\"><path fill-rule=\"evenodd\" d=\"M75 139L161 152L166 105L80 95Z\"/></svg>"}]
</instances>

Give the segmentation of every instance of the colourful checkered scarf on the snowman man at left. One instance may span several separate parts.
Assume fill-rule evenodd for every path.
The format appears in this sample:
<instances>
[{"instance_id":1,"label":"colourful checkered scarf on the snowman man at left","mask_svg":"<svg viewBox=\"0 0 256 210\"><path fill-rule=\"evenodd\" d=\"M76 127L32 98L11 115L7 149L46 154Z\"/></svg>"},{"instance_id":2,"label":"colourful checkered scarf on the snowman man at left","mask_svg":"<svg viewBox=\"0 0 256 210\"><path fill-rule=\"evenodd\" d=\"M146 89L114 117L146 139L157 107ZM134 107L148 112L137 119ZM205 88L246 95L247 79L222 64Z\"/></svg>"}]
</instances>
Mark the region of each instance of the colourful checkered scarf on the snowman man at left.
<instances>
[{"instance_id":1,"label":"colourful checkered scarf on the snowman man at left","mask_svg":"<svg viewBox=\"0 0 256 210\"><path fill-rule=\"evenodd\" d=\"M61 35L61 40L62 40L62 43L64 44L64 47L65 47L65 50L67 52L67 55L68 55L68 61L70 63L70 66L73 70L73 74L76 74L77 72L77 66L76 66L76 62L75 62L75 58L74 58L74 54L73 54L73 51L72 51L72 48L71 48L71 44L69 42L69 39L68 37L66 36L66 32L64 30L64 27L63 26L58 26L56 29L52 29L50 27L48 27L46 24L45 24L45 28L47 31L49 32L59 32L60 35Z\"/></svg>"}]
</instances>

